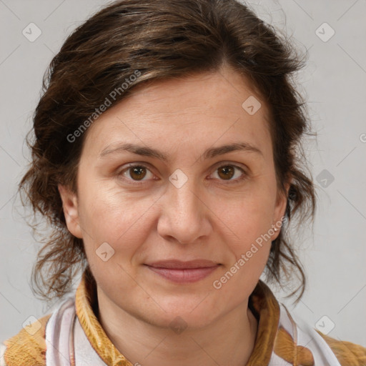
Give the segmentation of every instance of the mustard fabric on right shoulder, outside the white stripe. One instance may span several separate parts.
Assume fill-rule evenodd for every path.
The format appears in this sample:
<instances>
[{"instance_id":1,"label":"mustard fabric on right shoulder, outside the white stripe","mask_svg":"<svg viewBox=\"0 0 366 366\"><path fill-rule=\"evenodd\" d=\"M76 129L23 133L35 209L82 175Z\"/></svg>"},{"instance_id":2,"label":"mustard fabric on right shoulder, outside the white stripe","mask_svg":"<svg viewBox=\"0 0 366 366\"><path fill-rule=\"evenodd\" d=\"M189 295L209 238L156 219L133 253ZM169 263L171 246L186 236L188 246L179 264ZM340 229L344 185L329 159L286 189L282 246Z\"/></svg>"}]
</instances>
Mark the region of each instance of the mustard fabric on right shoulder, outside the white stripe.
<instances>
[{"instance_id":1,"label":"mustard fabric on right shoulder, outside the white stripe","mask_svg":"<svg viewBox=\"0 0 366 366\"><path fill-rule=\"evenodd\" d=\"M317 333L327 342L342 366L366 366L366 348L352 342L336 340L324 335L319 330Z\"/></svg>"}]
</instances>

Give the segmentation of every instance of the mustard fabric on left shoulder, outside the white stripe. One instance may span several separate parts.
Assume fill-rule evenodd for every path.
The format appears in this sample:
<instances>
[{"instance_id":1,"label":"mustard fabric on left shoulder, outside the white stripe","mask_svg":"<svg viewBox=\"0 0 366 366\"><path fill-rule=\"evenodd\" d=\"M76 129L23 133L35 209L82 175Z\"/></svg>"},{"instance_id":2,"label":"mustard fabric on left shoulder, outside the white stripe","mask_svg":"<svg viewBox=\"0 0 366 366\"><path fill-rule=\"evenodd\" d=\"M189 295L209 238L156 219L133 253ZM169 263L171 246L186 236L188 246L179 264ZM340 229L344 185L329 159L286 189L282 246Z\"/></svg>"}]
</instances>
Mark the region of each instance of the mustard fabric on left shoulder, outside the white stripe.
<instances>
[{"instance_id":1,"label":"mustard fabric on left shoulder, outside the white stripe","mask_svg":"<svg viewBox=\"0 0 366 366\"><path fill-rule=\"evenodd\" d=\"M1 345L0 366L46 365L46 324L51 314L26 325Z\"/></svg>"}]
</instances>

